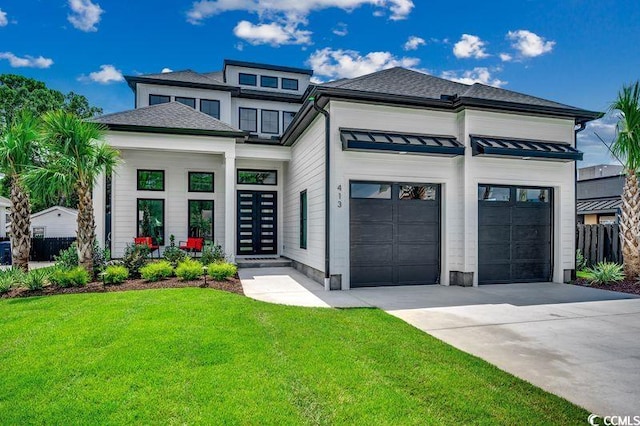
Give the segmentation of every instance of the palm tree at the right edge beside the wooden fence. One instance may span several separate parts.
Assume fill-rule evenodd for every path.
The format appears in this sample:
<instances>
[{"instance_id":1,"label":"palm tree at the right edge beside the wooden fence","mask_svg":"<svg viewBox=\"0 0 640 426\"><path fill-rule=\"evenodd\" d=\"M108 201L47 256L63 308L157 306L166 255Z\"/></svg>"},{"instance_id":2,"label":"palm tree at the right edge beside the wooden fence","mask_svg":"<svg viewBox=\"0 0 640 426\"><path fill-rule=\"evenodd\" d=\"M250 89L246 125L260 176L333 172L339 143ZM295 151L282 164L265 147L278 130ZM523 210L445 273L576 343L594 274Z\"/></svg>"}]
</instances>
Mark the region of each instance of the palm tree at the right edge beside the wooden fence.
<instances>
[{"instance_id":1,"label":"palm tree at the right edge beside the wooden fence","mask_svg":"<svg viewBox=\"0 0 640 426\"><path fill-rule=\"evenodd\" d=\"M624 162L626 179L620 208L620 240L627 278L640 276L640 82L623 86L611 104L619 114L612 152Z\"/></svg>"}]
</instances>

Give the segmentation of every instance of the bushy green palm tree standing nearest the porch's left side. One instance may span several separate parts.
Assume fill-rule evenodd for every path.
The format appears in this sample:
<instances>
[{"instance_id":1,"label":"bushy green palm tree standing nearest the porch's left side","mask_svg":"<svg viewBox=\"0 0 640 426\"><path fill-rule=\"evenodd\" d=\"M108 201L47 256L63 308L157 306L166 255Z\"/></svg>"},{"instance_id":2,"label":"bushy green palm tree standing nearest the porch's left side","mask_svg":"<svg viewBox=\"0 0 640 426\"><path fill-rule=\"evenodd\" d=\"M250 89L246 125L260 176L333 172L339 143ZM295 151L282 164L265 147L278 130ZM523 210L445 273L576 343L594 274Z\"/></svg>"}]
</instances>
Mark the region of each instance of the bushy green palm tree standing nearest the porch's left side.
<instances>
[{"instance_id":1,"label":"bushy green palm tree standing nearest the porch's left side","mask_svg":"<svg viewBox=\"0 0 640 426\"><path fill-rule=\"evenodd\" d=\"M26 181L43 196L77 195L78 262L93 275L93 186L101 173L112 173L119 162L119 152L103 142L104 126L68 112L45 113L42 127L46 161L34 168Z\"/></svg>"}]
</instances>

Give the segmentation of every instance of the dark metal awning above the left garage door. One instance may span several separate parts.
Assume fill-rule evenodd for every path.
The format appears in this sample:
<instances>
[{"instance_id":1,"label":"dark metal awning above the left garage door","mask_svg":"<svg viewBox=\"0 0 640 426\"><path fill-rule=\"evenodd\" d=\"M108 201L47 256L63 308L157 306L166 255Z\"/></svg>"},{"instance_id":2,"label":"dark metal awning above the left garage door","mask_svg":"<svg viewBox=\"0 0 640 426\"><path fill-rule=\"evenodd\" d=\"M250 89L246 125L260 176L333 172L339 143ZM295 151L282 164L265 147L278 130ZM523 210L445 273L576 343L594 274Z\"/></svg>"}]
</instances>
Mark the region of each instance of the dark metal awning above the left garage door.
<instances>
[{"instance_id":1,"label":"dark metal awning above the left garage door","mask_svg":"<svg viewBox=\"0 0 640 426\"><path fill-rule=\"evenodd\" d=\"M340 129L345 151L379 151L453 157L464 155L464 145L454 136L373 130Z\"/></svg>"}]
</instances>

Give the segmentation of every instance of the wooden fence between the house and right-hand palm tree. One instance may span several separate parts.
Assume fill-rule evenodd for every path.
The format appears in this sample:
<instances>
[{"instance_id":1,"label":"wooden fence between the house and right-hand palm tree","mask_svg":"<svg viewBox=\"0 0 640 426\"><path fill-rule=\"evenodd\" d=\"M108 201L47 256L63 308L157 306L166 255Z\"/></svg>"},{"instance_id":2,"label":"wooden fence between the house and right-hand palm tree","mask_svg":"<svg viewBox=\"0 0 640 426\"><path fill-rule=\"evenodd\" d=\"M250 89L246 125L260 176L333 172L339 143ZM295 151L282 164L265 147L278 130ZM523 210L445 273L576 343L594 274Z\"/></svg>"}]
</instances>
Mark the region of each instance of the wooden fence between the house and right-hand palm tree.
<instances>
[{"instance_id":1,"label":"wooden fence between the house and right-hand palm tree","mask_svg":"<svg viewBox=\"0 0 640 426\"><path fill-rule=\"evenodd\" d=\"M622 263L620 230L613 225L577 225L576 248L589 266L598 262Z\"/></svg>"}]
</instances>

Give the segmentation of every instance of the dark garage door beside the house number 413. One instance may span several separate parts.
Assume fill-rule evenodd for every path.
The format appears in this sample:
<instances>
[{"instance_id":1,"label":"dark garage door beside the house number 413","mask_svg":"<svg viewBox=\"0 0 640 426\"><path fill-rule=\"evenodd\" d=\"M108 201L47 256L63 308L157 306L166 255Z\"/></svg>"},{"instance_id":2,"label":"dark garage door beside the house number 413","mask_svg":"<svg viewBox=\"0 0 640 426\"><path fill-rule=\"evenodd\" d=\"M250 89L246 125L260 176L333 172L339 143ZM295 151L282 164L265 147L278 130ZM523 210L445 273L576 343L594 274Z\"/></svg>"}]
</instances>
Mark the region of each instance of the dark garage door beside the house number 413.
<instances>
[{"instance_id":1,"label":"dark garage door beside the house number 413","mask_svg":"<svg viewBox=\"0 0 640 426\"><path fill-rule=\"evenodd\" d=\"M440 187L352 182L351 287L436 284Z\"/></svg>"}]
</instances>

